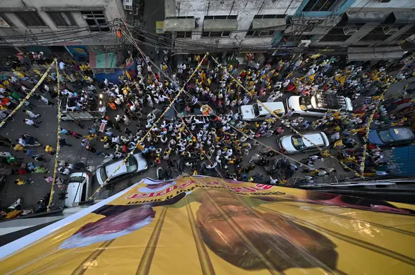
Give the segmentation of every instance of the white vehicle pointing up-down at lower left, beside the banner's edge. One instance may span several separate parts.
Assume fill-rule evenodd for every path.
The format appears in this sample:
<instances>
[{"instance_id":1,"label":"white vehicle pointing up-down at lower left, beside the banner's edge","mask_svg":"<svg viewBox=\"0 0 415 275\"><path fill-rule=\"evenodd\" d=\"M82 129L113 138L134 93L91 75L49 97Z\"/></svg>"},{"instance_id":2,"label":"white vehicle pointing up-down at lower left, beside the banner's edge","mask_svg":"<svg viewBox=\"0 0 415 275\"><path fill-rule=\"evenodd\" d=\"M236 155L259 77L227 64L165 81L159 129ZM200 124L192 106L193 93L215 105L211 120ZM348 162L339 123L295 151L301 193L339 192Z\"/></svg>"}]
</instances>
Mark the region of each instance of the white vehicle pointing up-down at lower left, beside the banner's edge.
<instances>
[{"instance_id":1,"label":"white vehicle pointing up-down at lower left, beside the banner's edge","mask_svg":"<svg viewBox=\"0 0 415 275\"><path fill-rule=\"evenodd\" d=\"M86 202L92 194L91 174L88 172L71 173L66 189L65 207L73 207L79 202Z\"/></svg>"}]
</instances>

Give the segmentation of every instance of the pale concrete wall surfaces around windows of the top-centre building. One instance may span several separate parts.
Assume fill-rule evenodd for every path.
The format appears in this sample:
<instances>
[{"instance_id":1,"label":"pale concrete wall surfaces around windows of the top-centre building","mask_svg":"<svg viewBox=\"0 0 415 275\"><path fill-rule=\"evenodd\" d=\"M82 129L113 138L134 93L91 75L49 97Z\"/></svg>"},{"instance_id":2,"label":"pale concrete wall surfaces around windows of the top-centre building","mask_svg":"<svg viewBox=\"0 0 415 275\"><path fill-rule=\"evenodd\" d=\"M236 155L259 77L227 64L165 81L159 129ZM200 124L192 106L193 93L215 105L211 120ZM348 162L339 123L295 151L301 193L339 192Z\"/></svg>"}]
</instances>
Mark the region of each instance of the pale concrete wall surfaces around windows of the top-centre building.
<instances>
[{"instance_id":1,"label":"pale concrete wall surfaces around windows of the top-centre building","mask_svg":"<svg viewBox=\"0 0 415 275\"><path fill-rule=\"evenodd\" d=\"M195 17L198 28L192 39L181 39L201 44L270 47L273 37L245 37L255 15L294 15L302 0L165 0L165 17ZM230 37L201 37L203 19L207 15L238 15L238 31ZM216 41L219 41L216 44Z\"/></svg>"}]
</instances>

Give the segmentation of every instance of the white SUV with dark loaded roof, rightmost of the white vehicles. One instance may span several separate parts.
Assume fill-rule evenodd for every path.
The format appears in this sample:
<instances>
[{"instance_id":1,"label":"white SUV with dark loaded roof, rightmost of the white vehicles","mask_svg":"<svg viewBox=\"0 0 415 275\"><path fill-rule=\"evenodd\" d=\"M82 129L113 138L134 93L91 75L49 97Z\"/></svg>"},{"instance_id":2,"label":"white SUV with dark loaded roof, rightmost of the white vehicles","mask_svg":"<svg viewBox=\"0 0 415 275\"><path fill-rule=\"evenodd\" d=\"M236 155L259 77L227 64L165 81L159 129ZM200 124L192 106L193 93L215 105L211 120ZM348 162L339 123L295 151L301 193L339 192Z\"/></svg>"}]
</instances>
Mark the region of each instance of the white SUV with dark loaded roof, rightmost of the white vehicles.
<instances>
[{"instance_id":1,"label":"white SUV with dark loaded roof, rightmost of the white vehicles","mask_svg":"<svg viewBox=\"0 0 415 275\"><path fill-rule=\"evenodd\" d=\"M340 95L313 95L311 97L292 95L286 101L287 110L294 109L293 115L323 117L324 113L353 111L351 99Z\"/></svg>"}]
</instances>

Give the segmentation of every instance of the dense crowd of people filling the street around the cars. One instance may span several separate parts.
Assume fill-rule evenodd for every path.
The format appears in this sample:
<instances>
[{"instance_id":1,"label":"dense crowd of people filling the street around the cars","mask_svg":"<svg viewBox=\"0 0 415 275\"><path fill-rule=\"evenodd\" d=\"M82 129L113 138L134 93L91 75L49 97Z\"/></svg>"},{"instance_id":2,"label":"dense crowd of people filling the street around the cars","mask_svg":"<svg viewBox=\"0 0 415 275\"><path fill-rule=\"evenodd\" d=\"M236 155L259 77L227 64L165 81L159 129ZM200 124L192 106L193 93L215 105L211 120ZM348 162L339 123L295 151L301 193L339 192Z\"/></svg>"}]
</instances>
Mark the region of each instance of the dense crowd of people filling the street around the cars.
<instances>
[{"instance_id":1,"label":"dense crowd of people filling the street around the cars","mask_svg":"<svg viewBox=\"0 0 415 275\"><path fill-rule=\"evenodd\" d=\"M136 67L124 70L118 81L113 82L108 79L98 82L87 64L59 61L62 110L98 114L90 124L75 120L73 126L67 127L71 129L62 127L59 145L80 145L102 156L103 163L125 158L135 150L145 155L150 167L169 166L180 171L190 167L190 173L270 184L291 184L294 173L304 173L303 178L310 183L315 177L338 173L338 169L315 164L324 158L338 159L344 171L365 176L387 174L382 151L373 144L362 151L354 137L365 136L368 127L412 125L414 89L405 86L397 97L384 96L391 84L413 76L412 57L394 63L347 64L340 57L293 55L272 63L255 64L252 55L247 55L246 66L236 61L221 65L208 55L189 55L174 65L167 50L157 49L156 53L156 57L138 54L134 58ZM154 61L160 66L152 65ZM13 75L1 81L2 120L24 100L42 75L39 70L25 73L14 70ZM55 148L44 144L44 152L33 149L42 144L42 138L30 135L30 129L44 125L36 102L57 108L56 80L56 73L48 73L44 83L19 110L28 116L24 119L28 125L24 132L28 133L18 140L0 137L0 146L10 147L1 152L0 173L17 174L17 184L24 184L20 176L26 173L45 173L45 180L51 181L53 171L44 167L44 160L45 156L55 155ZM258 99L280 101L286 95L344 96L357 106L352 112L340 109L324 113L317 120L295 116L294 110L286 110L282 117L272 116L257 122L241 119L241 105L254 104ZM167 116L165 111L174 99L174 115ZM405 107L400 108L402 104ZM6 125L12 127L12 120L13 116ZM85 127L89 131L86 135L76 130ZM306 131L324 131L330 137L331 149L297 162L284 150L259 139ZM279 162L280 159L283 161ZM78 164L75 168L85 166ZM258 173L252 176L257 166L264 167L269 177ZM65 164L58 171L64 177L75 168L73 164ZM63 186L64 180L59 178L58 184Z\"/></svg>"}]
</instances>

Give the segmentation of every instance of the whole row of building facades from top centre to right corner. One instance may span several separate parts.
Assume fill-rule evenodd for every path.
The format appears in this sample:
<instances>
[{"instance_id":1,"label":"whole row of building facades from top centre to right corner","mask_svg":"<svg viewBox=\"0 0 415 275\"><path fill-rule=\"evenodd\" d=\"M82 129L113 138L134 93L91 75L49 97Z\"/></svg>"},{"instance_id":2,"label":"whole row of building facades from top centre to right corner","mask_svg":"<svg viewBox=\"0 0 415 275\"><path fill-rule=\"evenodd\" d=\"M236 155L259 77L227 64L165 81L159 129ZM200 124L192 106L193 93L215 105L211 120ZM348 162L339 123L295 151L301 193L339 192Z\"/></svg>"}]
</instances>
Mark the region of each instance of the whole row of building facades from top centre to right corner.
<instances>
[{"instance_id":1,"label":"whole row of building facades from top centre to right corner","mask_svg":"<svg viewBox=\"0 0 415 275\"><path fill-rule=\"evenodd\" d=\"M413 0L166 0L164 28L176 52L205 44L254 52L355 48L398 57L400 43L415 34L414 9Z\"/></svg>"}]
</instances>

